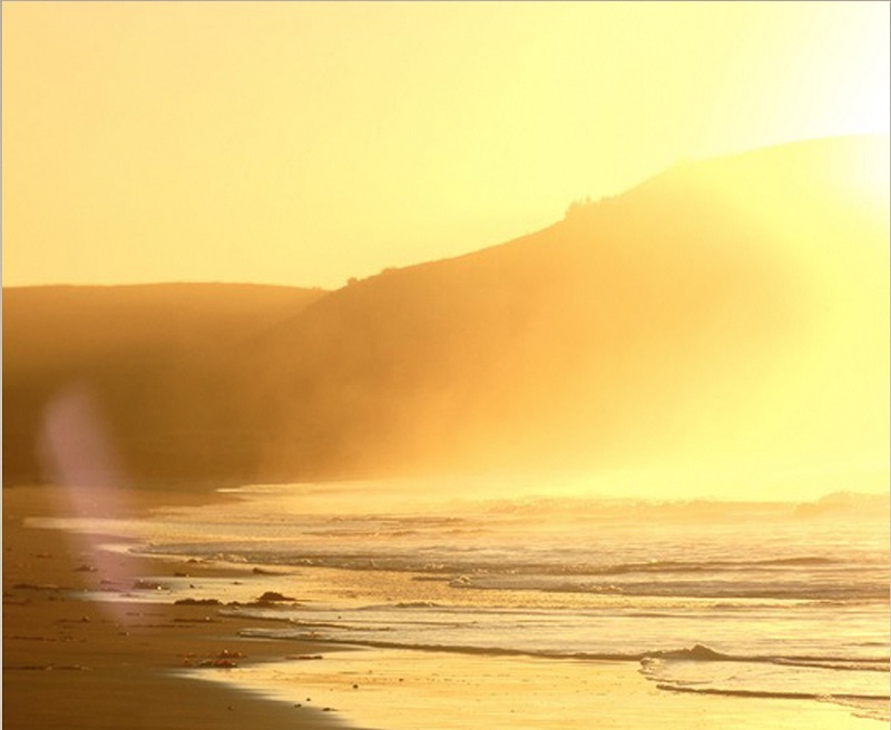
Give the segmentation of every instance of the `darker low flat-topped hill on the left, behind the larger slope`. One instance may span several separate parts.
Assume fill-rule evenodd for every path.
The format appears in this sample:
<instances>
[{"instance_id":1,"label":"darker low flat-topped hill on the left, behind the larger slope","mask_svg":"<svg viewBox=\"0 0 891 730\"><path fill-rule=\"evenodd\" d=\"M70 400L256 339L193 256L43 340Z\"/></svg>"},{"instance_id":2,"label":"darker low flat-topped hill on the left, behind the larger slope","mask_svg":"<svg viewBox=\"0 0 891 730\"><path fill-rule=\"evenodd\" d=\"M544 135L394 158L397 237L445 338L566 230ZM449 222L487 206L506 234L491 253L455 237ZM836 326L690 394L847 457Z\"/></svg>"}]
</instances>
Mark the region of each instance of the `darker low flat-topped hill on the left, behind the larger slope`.
<instances>
[{"instance_id":1,"label":"darker low flat-topped hill on the left, behind the larger slope","mask_svg":"<svg viewBox=\"0 0 891 730\"><path fill-rule=\"evenodd\" d=\"M47 479L48 411L88 397L140 481L244 473L232 398L245 338L323 296L232 284L3 289L3 483Z\"/></svg>"}]
</instances>

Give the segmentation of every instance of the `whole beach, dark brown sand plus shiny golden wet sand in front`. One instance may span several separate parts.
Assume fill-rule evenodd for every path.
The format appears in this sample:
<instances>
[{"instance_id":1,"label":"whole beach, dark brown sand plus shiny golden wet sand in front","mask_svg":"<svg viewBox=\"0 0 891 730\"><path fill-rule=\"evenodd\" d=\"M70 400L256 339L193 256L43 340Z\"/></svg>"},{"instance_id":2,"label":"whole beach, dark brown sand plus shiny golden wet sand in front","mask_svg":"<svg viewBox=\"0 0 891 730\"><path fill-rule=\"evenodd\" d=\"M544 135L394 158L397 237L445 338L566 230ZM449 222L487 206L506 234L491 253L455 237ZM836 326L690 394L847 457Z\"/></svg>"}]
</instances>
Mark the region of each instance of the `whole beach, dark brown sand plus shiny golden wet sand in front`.
<instances>
[{"instance_id":1,"label":"whole beach, dark brown sand plus shiny golden wet sand in front","mask_svg":"<svg viewBox=\"0 0 891 730\"><path fill-rule=\"evenodd\" d=\"M101 494L87 494L80 493L72 506L63 487L3 490L7 728L119 728L126 721L134 729L243 730L248 723L402 730L428 719L449 729L668 730L694 720L706 729L878 727L874 719L824 702L667 692L643 677L635 662L261 637L256 616L206 596L258 596L277 586L312 602L309 574L149 556L129 550L120 534L39 526L48 517L63 524L65 517L86 516L90 500L106 511L95 516L139 520L169 507L212 510L233 495L131 490L109 505ZM108 550L111 542L125 548ZM155 581L159 590L151 595ZM195 590L185 592L160 585L192 581ZM362 590L358 582L353 589ZM104 594L111 600L102 600ZM195 598L184 603L187 594ZM362 595L363 601L372 598L380 599ZM324 661L295 661L310 658Z\"/></svg>"}]
</instances>

